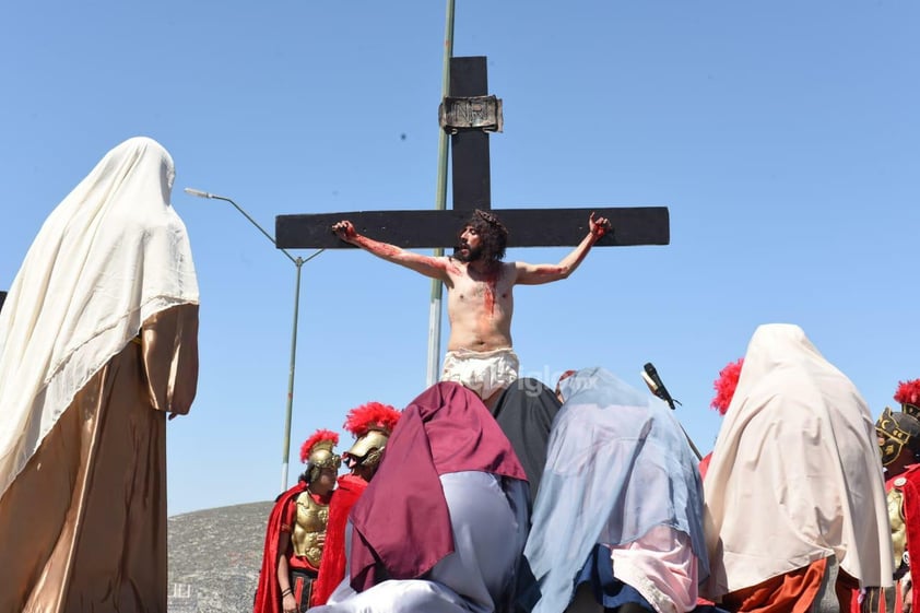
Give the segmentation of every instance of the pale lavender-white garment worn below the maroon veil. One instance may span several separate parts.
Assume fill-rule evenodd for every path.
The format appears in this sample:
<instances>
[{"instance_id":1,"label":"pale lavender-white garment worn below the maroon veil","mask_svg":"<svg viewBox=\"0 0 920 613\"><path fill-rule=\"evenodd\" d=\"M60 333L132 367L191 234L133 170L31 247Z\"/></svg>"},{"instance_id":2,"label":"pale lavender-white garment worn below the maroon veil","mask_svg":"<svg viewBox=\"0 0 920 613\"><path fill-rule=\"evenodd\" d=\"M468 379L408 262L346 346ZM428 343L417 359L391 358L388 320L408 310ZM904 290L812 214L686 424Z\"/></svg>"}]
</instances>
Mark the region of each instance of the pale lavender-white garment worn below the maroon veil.
<instances>
[{"instance_id":1,"label":"pale lavender-white garment worn below the maroon veil","mask_svg":"<svg viewBox=\"0 0 920 613\"><path fill-rule=\"evenodd\" d=\"M492 613L506 610L527 538L524 482L464 471L444 474L440 483L450 509L452 554L423 578L384 581L361 593L349 586L345 577L328 604L310 611Z\"/></svg>"}]
</instances>

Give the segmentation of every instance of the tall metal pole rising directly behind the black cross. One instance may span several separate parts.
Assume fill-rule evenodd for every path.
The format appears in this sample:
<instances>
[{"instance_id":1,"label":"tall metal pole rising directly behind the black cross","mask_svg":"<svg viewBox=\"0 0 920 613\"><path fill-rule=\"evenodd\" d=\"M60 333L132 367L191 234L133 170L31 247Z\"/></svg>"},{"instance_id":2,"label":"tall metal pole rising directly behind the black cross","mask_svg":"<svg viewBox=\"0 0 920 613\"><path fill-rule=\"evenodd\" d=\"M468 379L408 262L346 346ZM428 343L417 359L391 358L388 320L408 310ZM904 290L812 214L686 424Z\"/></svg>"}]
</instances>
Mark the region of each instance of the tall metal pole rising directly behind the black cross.
<instances>
[{"instance_id":1,"label":"tall metal pole rising directly behind the black cross","mask_svg":"<svg viewBox=\"0 0 920 613\"><path fill-rule=\"evenodd\" d=\"M450 94L450 58L453 57L453 1L447 0L447 17L444 26L444 68L441 69L441 99ZM438 178L435 189L435 209L447 208L447 132L438 130ZM444 256L444 249L435 249L435 257ZM426 385L435 385L440 370L440 322L444 284L432 279L432 304L428 310L428 369Z\"/></svg>"}]
</instances>

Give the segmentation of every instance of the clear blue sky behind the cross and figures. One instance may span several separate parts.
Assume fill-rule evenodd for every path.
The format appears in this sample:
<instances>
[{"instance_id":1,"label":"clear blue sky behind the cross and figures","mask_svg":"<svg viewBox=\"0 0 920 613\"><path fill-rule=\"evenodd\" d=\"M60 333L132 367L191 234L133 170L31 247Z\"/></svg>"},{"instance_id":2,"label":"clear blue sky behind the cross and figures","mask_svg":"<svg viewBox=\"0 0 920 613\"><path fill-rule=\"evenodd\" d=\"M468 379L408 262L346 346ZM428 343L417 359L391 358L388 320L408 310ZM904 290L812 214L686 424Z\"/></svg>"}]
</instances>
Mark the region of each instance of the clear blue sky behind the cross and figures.
<instances>
[{"instance_id":1,"label":"clear blue sky behind the cross and figures","mask_svg":"<svg viewBox=\"0 0 920 613\"><path fill-rule=\"evenodd\" d=\"M231 197L270 231L281 213L432 208L444 2L2 13L0 288L107 150L163 143L201 286L198 397L168 425L169 512L272 498L295 269L228 204L182 188ZM874 413L890 404L920 377L919 25L907 1L458 0L455 55L488 56L505 104L496 208L671 212L670 246L598 249L566 281L518 288L522 372L603 365L640 386L651 361L708 450L712 380L781 321ZM428 294L358 251L305 266L291 480L315 428L422 391Z\"/></svg>"}]
</instances>

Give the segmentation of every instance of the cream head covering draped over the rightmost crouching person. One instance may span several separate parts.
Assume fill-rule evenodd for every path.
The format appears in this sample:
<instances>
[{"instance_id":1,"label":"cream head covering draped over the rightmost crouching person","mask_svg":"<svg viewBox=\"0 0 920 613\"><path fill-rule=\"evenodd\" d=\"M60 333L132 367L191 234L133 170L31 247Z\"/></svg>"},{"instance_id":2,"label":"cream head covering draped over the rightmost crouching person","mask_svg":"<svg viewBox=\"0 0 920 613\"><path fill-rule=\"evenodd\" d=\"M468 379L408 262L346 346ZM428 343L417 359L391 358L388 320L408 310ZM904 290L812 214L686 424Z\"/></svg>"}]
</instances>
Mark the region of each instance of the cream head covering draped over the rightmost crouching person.
<instances>
[{"instance_id":1,"label":"cream head covering draped over the rightmost crouching person","mask_svg":"<svg viewBox=\"0 0 920 613\"><path fill-rule=\"evenodd\" d=\"M704 482L718 598L836 555L861 586L892 583L875 423L798 326L754 332Z\"/></svg>"}]
</instances>

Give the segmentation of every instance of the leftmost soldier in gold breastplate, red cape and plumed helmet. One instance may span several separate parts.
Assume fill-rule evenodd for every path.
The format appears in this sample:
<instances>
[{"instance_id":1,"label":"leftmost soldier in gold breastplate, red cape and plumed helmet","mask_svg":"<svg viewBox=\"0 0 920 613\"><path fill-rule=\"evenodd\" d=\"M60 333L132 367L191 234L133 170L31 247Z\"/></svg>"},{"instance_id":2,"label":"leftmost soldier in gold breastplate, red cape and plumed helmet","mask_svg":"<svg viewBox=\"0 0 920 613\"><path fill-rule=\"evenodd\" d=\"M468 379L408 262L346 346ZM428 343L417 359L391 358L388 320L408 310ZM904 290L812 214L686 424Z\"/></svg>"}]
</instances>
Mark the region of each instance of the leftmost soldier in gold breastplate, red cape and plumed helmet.
<instances>
[{"instance_id":1,"label":"leftmost soldier in gold breastplate, red cape and plumed helmet","mask_svg":"<svg viewBox=\"0 0 920 613\"><path fill-rule=\"evenodd\" d=\"M300 447L307 469L297 484L275 500L266 531L266 550L255 613L294 613L311 606L319 574L329 504L342 458L339 435L317 431Z\"/></svg>"}]
</instances>

